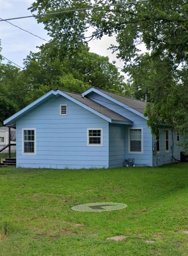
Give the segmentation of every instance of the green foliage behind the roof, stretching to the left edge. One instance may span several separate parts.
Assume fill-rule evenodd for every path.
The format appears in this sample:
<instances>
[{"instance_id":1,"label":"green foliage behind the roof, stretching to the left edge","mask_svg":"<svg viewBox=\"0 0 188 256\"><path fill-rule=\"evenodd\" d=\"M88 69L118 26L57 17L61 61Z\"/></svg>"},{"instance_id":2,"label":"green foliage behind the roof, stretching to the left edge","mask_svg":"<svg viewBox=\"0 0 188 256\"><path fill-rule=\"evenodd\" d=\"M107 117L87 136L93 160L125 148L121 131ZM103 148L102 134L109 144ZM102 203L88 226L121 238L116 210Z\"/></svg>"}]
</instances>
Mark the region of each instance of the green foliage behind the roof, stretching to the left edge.
<instances>
[{"instance_id":1,"label":"green foliage behind the roof, stretching to the left edge","mask_svg":"<svg viewBox=\"0 0 188 256\"><path fill-rule=\"evenodd\" d=\"M108 57L90 53L82 46L60 57L53 42L24 60L24 70L0 63L0 125L51 89L82 93L91 86L126 93L127 85Z\"/></svg>"}]
</instances>

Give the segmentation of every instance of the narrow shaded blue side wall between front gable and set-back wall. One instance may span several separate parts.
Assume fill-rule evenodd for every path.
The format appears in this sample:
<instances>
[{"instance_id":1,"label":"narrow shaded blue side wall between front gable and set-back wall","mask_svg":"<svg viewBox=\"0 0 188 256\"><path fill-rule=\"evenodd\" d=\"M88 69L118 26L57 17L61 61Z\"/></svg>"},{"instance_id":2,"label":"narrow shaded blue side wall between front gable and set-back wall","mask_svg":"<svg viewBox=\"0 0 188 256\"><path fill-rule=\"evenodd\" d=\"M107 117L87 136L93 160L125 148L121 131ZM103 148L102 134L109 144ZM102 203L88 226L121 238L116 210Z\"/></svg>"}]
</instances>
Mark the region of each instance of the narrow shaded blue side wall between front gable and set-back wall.
<instances>
[{"instance_id":1,"label":"narrow shaded blue side wall between front gable and set-back wall","mask_svg":"<svg viewBox=\"0 0 188 256\"><path fill-rule=\"evenodd\" d=\"M109 124L109 167L123 166L125 160L125 125Z\"/></svg>"}]
</instances>

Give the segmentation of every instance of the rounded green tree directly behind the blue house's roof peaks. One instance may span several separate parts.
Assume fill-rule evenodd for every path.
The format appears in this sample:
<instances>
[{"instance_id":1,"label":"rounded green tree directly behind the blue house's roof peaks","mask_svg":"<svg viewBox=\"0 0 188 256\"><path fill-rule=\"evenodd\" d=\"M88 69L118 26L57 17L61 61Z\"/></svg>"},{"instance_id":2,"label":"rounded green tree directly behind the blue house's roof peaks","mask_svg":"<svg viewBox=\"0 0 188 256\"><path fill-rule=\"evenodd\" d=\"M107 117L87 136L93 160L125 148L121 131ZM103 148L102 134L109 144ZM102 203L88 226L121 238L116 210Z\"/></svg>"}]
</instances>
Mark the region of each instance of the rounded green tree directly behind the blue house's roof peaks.
<instances>
[{"instance_id":1,"label":"rounded green tree directly behind the blue house's roof peaks","mask_svg":"<svg viewBox=\"0 0 188 256\"><path fill-rule=\"evenodd\" d=\"M38 53L30 53L25 59L24 76L29 91L27 103L51 89L62 89L82 93L91 86L126 93L127 85L108 57L90 53L89 48L58 55L54 42L40 47Z\"/></svg>"}]
</instances>

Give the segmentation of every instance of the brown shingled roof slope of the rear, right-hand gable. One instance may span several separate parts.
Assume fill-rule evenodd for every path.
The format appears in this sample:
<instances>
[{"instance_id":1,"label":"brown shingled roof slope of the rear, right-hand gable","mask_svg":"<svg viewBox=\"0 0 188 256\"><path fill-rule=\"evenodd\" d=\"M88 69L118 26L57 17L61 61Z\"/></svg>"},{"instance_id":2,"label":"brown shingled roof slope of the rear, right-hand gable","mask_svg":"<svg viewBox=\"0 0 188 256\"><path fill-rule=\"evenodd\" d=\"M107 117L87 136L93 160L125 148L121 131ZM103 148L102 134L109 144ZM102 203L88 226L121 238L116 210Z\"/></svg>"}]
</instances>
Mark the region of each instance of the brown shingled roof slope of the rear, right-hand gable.
<instances>
[{"instance_id":1,"label":"brown shingled roof slope of the rear, right-hand gable","mask_svg":"<svg viewBox=\"0 0 188 256\"><path fill-rule=\"evenodd\" d=\"M145 101L140 101L137 99L132 99L130 97L127 96L123 96L117 93L113 93L111 91L106 91L103 89L99 89L99 88L95 88L103 93L105 93L106 95L116 99L117 101L122 102L123 104L126 104L127 106L137 110L140 113L144 113L145 107L146 107L146 102Z\"/></svg>"}]
</instances>

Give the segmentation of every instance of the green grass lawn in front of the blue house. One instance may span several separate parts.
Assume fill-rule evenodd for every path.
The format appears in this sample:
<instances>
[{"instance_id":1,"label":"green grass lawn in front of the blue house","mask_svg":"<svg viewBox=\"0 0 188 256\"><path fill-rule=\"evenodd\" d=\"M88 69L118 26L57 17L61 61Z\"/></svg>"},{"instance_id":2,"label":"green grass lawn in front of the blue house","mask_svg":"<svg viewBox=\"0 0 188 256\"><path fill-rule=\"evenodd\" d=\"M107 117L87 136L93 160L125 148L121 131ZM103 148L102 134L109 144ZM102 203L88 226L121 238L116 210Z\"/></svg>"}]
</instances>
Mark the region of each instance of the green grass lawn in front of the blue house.
<instances>
[{"instance_id":1,"label":"green grass lawn in front of the blue house","mask_svg":"<svg viewBox=\"0 0 188 256\"><path fill-rule=\"evenodd\" d=\"M92 202L128 207L71 210ZM186 230L186 163L108 170L0 168L0 255L187 256ZM106 240L116 235L127 238Z\"/></svg>"}]
</instances>

